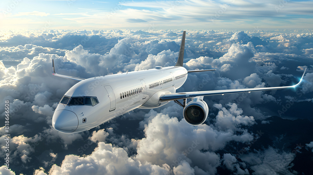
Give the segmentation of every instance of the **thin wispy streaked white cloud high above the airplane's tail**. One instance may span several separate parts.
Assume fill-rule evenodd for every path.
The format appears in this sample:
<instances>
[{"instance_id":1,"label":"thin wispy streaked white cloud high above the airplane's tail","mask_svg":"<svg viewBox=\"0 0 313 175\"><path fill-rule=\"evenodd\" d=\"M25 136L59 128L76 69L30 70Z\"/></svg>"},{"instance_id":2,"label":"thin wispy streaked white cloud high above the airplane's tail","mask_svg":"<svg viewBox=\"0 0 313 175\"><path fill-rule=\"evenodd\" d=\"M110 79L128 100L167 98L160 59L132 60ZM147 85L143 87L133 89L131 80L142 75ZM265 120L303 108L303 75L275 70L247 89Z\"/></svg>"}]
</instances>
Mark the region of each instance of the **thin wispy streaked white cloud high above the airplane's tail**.
<instances>
[{"instance_id":1,"label":"thin wispy streaked white cloud high above the airplane's tail","mask_svg":"<svg viewBox=\"0 0 313 175\"><path fill-rule=\"evenodd\" d=\"M235 1L219 1L219 2L207 2L207 1L158 1L158 2L124 2L124 6L128 6L126 10L122 10L115 16L123 17L137 17L141 16L141 19L146 21L154 22L155 20L161 21L163 25L172 22L174 25L179 26L183 21L193 21L194 26L203 26L203 23L214 22L215 26L221 26L221 22L227 23L228 25L236 26L238 22L244 17L249 16L254 19L254 22L246 22L247 26L264 26L267 23L281 23L286 25L280 20L262 20L261 17L283 17L285 20L287 14L297 14L298 10L306 9L300 2L288 2L283 8L280 7L279 3L272 1L266 1L262 5L255 5L254 1L235 2ZM173 10L173 7L174 10ZM273 8L268 8L273 7ZM141 8L145 8L141 10ZM148 9L146 9L148 8ZM243 10L245 9L245 10ZM239 13L240 12L240 13ZM181 14L185 14L182 16ZM114 18L115 18L114 16ZM297 16L297 15L296 15ZM300 16L299 16L300 17ZM174 20L175 19L175 20ZM233 22L229 22L229 19L233 19ZM287 21L287 23L289 23ZM172 24L173 25L173 24ZM189 24L185 24L189 26ZM226 24L224 24L226 25ZM224 26L223 25L223 26Z\"/></svg>"}]
</instances>

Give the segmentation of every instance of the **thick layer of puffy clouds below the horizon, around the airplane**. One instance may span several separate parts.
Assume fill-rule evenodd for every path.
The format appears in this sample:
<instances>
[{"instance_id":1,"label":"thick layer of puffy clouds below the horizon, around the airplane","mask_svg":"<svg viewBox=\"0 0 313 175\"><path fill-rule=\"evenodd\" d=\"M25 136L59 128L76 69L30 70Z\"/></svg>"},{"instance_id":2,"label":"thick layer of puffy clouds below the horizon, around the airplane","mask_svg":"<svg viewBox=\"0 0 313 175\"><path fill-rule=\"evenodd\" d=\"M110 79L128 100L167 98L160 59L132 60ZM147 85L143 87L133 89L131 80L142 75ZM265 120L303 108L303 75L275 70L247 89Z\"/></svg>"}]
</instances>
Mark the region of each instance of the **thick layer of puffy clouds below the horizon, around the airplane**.
<instances>
[{"instance_id":1,"label":"thick layer of puffy clouds below the horizon, around the airplane","mask_svg":"<svg viewBox=\"0 0 313 175\"><path fill-rule=\"evenodd\" d=\"M205 97L209 116L196 127L187 124L182 108L170 102L153 110L136 109L83 133L63 134L52 128L54 109L76 82L53 76L51 59L58 73L81 78L172 66L181 33L180 30L3 32L0 96L10 101L9 153L15 163L10 165L12 171L2 166L0 172L292 173L290 162L300 153L295 155L289 148L283 150L263 142L268 136L256 129L271 123L266 121L269 116L309 118L310 108L305 108L311 105L313 93L310 66L313 40L309 31L187 31L184 67L217 70L188 74L186 83L177 92L292 85L308 67L304 83L295 90ZM4 101L0 105L4 106ZM290 115L299 108L305 115ZM4 127L0 133L6 133ZM276 135L272 137L269 139L275 140ZM4 136L0 141L2 147L3 140ZM256 145L258 140L263 148L253 150L246 146ZM307 140L303 144L312 151L312 141ZM244 154L238 157L239 153ZM286 156L289 159L283 161ZM279 169L272 166L276 161L281 162Z\"/></svg>"}]
</instances>

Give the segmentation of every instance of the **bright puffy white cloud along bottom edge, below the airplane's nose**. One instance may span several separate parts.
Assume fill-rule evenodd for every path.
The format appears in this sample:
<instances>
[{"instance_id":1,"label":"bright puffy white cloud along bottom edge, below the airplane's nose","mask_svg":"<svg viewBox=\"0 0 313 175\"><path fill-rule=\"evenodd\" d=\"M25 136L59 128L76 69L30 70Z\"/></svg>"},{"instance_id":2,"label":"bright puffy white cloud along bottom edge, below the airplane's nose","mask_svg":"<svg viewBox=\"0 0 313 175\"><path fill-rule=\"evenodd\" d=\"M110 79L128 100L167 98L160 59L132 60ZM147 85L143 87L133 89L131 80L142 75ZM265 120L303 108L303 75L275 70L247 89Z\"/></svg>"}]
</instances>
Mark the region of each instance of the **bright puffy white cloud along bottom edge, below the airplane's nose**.
<instances>
[{"instance_id":1,"label":"bright puffy white cloud along bottom edge, below the airplane's nose","mask_svg":"<svg viewBox=\"0 0 313 175\"><path fill-rule=\"evenodd\" d=\"M86 157L65 156L61 166L53 165L49 174L165 174L167 165L162 167L151 163L141 163L129 158L123 148L112 147L112 144L98 143L95 151Z\"/></svg>"}]
</instances>

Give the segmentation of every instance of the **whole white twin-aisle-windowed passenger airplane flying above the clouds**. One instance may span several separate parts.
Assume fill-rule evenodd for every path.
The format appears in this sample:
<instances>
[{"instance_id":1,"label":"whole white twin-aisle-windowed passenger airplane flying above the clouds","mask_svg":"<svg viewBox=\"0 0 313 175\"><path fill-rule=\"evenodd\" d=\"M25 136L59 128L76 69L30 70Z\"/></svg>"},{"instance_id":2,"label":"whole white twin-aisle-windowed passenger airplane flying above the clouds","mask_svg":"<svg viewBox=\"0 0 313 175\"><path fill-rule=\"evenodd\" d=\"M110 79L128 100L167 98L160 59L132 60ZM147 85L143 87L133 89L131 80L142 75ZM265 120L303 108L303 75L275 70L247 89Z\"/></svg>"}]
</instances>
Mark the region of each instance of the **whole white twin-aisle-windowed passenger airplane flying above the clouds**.
<instances>
[{"instance_id":1,"label":"whole white twin-aisle-windowed passenger airplane flying above the clouds","mask_svg":"<svg viewBox=\"0 0 313 175\"><path fill-rule=\"evenodd\" d=\"M55 73L52 59L53 75L78 81L64 94L55 109L53 128L62 133L79 133L136 108L157 108L169 101L182 106L186 122L196 126L208 117L204 96L295 88L305 74L304 71L300 82L293 86L176 93L176 89L185 83L188 73L216 70L187 71L183 67L185 37L186 31L183 31L176 65L164 68L156 66L154 69L84 79ZM187 98L191 101L186 104ZM181 99L183 104L178 101Z\"/></svg>"}]
</instances>

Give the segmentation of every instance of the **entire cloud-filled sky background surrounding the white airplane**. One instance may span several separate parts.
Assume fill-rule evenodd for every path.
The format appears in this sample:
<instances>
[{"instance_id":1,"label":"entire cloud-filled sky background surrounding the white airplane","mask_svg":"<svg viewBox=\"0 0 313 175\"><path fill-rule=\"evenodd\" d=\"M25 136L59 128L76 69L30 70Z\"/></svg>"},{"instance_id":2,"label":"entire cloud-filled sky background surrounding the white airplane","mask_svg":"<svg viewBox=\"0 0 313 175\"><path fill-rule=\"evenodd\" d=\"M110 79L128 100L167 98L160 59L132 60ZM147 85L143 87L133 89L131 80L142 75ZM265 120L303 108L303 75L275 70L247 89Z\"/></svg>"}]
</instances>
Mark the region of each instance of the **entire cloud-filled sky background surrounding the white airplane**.
<instances>
[{"instance_id":1,"label":"entire cloud-filled sky background surrounding the white airplane","mask_svg":"<svg viewBox=\"0 0 313 175\"><path fill-rule=\"evenodd\" d=\"M12 5L14 4L14 5ZM312 1L3 1L0 107L10 103L10 150L0 125L0 174L313 174ZM187 124L170 102L135 109L89 131L52 127L76 81L176 63L176 92L290 86L204 97L209 114ZM0 123L4 123L0 111Z\"/></svg>"}]
</instances>

